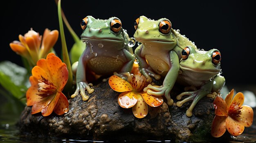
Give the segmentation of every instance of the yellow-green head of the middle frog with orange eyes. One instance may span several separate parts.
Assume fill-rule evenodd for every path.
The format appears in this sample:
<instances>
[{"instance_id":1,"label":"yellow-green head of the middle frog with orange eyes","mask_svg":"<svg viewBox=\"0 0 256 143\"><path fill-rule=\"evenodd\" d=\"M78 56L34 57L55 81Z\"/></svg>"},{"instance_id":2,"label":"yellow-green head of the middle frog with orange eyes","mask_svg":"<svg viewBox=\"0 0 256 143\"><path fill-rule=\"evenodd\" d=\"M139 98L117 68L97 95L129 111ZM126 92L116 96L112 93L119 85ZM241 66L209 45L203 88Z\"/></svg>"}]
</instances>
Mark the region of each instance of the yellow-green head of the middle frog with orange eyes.
<instances>
[{"instance_id":1,"label":"yellow-green head of the middle frog with orange eyes","mask_svg":"<svg viewBox=\"0 0 256 143\"><path fill-rule=\"evenodd\" d=\"M176 44L171 26L170 20L166 18L151 20L140 16L134 23L134 38L141 43Z\"/></svg>"}]
</instances>

